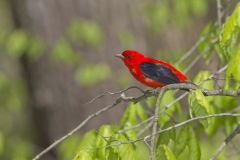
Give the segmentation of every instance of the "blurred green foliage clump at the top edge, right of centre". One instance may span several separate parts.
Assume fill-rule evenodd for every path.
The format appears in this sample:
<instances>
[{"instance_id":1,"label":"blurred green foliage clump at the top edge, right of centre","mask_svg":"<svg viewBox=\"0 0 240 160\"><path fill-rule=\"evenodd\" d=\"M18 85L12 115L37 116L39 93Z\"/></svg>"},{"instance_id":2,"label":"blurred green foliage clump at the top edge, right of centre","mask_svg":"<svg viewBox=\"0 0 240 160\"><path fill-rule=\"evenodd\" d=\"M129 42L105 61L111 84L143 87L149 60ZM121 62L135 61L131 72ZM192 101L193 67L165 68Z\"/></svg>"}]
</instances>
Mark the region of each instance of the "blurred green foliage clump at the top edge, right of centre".
<instances>
[{"instance_id":1,"label":"blurred green foliage clump at the top edge, right of centre","mask_svg":"<svg viewBox=\"0 0 240 160\"><path fill-rule=\"evenodd\" d=\"M207 7L205 0L149 2L145 7L145 22L151 31L158 34L169 24L186 27L191 23L192 17L203 17Z\"/></svg>"}]
</instances>

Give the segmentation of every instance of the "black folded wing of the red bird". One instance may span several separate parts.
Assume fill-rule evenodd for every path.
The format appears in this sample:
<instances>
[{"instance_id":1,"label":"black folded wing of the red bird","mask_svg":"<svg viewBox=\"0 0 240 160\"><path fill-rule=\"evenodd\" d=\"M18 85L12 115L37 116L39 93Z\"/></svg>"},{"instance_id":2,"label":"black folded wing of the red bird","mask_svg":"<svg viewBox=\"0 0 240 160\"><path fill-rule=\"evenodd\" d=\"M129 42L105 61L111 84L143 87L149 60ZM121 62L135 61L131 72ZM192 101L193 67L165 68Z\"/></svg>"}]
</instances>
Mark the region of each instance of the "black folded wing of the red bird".
<instances>
[{"instance_id":1,"label":"black folded wing of the red bird","mask_svg":"<svg viewBox=\"0 0 240 160\"><path fill-rule=\"evenodd\" d=\"M140 64L140 69L144 76L164 83L164 84L173 84L180 83L178 77L169 69L161 64L144 62Z\"/></svg>"}]
</instances>

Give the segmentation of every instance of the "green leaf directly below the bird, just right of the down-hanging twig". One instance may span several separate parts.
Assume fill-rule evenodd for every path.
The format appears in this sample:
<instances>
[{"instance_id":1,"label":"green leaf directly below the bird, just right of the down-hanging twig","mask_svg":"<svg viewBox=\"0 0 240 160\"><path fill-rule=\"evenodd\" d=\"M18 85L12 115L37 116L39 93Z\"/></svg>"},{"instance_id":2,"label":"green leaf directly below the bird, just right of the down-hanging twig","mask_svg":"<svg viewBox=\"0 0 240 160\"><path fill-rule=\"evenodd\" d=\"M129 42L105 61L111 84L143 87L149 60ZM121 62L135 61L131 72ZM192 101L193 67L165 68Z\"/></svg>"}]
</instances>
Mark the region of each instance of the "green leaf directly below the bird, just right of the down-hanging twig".
<instances>
[{"instance_id":1,"label":"green leaf directly below the bird, just right of the down-hanging twig","mask_svg":"<svg viewBox=\"0 0 240 160\"><path fill-rule=\"evenodd\" d=\"M159 119L158 123L160 127L163 127L166 122L171 120L173 113L175 112L177 106L180 104L177 102L174 105L170 106L167 110L165 108L165 105L171 103L172 101L175 100L174 92L173 91L168 91L164 94L162 97L162 100L160 102L160 108L159 108Z\"/></svg>"}]
</instances>

